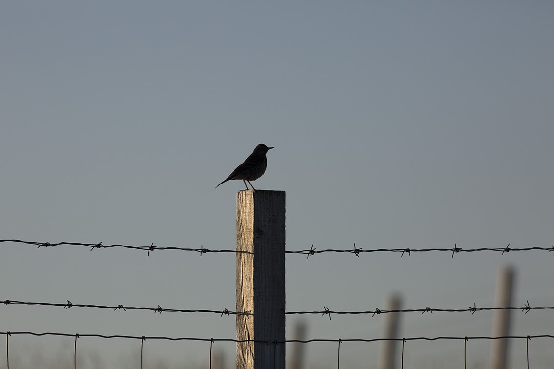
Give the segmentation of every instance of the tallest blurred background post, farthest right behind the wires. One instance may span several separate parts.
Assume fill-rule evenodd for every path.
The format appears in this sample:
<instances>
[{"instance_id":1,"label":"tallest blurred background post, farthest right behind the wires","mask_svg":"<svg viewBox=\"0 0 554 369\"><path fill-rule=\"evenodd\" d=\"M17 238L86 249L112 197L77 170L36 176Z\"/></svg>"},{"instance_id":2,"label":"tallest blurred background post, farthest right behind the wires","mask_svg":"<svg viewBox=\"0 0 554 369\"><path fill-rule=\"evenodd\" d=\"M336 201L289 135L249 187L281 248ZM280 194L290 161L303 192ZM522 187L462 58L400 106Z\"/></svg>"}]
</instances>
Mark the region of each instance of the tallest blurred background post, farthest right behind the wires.
<instances>
[{"instance_id":1,"label":"tallest blurred background post, farthest right behind the wires","mask_svg":"<svg viewBox=\"0 0 554 369\"><path fill-rule=\"evenodd\" d=\"M494 305L499 308L511 306L514 269L504 267L496 277L496 296ZM510 334L510 310L495 310L493 316L493 337ZM492 340L490 344L490 369L506 369L508 339Z\"/></svg>"}]
</instances>

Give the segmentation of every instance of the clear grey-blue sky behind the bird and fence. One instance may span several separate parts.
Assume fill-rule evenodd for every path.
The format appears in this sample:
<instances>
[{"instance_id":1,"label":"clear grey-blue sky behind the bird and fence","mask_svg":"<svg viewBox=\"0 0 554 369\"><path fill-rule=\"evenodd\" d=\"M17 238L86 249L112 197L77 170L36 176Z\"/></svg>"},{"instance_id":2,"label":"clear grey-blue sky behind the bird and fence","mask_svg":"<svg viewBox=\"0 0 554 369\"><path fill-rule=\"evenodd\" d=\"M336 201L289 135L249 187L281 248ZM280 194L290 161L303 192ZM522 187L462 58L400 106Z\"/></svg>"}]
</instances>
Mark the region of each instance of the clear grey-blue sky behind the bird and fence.
<instances>
[{"instance_id":1,"label":"clear grey-blue sky behind the bird and fence","mask_svg":"<svg viewBox=\"0 0 554 369\"><path fill-rule=\"evenodd\" d=\"M275 149L253 184L286 191L287 250L550 247L552 19L546 1L3 2L0 238L234 248L243 184L214 188L264 143ZM552 306L553 257L293 255L287 310L372 310L391 293L407 309L494 306L507 264L514 305ZM234 310L235 258L2 243L0 292ZM401 335L486 336L492 315L404 314ZM514 315L513 334L554 334L551 311ZM307 338L376 338L382 318L306 323ZM2 305L8 330L233 338L235 321ZM73 354L72 339L10 342L22 362ZM550 341L531 342L537 365L552 362ZM84 367L136 367L138 342L79 345ZM460 342L411 345L411 367L463 365ZM488 346L470 342L469 362L486 363ZM376 347L343 346L344 367L374 362ZM525 342L512 348L522 363ZM169 367L204 365L208 347L145 350ZM234 362L234 345L214 350ZM335 344L306 350L311 367L335 363Z\"/></svg>"}]
</instances>

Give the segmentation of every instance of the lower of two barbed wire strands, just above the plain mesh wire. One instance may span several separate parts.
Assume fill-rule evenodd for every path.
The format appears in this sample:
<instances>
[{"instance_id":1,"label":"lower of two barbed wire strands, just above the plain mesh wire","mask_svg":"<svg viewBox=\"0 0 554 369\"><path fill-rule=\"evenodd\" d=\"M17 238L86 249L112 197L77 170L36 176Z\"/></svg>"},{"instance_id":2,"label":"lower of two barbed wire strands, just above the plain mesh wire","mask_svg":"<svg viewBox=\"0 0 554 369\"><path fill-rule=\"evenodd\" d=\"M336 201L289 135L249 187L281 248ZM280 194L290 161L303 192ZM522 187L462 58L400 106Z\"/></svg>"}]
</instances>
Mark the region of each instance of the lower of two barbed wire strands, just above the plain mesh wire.
<instances>
[{"instance_id":1,"label":"lower of two barbed wire strands, just above the plain mesh wire","mask_svg":"<svg viewBox=\"0 0 554 369\"><path fill-rule=\"evenodd\" d=\"M212 313L212 314L218 314L220 316L223 315L245 315L245 316L253 316L254 314L248 310L248 311L230 311L227 308L224 308L223 310L208 310L208 309L167 309L162 308L159 304L157 308L150 308L146 306L127 306L122 304L117 305L97 305L97 304L74 304L70 302L70 300L67 300L66 303L47 303L47 302L27 302L27 301L18 301L18 300L3 300L0 301L3 305L35 305L35 306L55 306L55 307L61 307L63 309L69 309L73 307L77 308L97 308L97 309L110 309L110 310L146 310L146 311L153 311L154 313ZM286 311L286 315L327 315L329 316L329 319L331 319L332 314L337 315L381 315L381 314L388 314L388 313L471 313L471 315L475 314L477 311L491 311L491 310L521 310L523 313L527 314L531 310L554 310L554 306L531 306L529 304L529 300L526 301L524 306L493 306L493 307L479 307L476 306L476 303L473 303L473 306L468 306L468 308L463 309L440 309L440 308L430 308L429 306L425 306L423 309L397 309L397 310L382 310L382 309L375 309L375 310L366 310L366 311L334 311L329 309L329 307L324 306L324 310L314 310L314 311Z\"/></svg>"}]
</instances>

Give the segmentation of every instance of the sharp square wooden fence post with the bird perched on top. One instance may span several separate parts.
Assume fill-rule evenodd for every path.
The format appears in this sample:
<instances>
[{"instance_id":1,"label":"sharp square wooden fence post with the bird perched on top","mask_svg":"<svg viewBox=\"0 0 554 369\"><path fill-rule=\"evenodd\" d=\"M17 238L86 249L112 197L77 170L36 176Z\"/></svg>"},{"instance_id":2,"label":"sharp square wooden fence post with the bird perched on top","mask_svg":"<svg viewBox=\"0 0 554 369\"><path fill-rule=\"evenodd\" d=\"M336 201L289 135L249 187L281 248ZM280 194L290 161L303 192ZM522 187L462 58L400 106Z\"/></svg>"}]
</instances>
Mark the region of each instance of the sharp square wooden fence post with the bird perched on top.
<instances>
[{"instance_id":1,"label":"sharp square wooden fence post with the bird perched on top","mask_svg":"<svg viewBox=\"0 0 554 369\"><path fill-rule=\"evenodd\" d=\"M285 369L285 191L237 193L237 251L237 368Z\"/></svg>"}]
</instances>

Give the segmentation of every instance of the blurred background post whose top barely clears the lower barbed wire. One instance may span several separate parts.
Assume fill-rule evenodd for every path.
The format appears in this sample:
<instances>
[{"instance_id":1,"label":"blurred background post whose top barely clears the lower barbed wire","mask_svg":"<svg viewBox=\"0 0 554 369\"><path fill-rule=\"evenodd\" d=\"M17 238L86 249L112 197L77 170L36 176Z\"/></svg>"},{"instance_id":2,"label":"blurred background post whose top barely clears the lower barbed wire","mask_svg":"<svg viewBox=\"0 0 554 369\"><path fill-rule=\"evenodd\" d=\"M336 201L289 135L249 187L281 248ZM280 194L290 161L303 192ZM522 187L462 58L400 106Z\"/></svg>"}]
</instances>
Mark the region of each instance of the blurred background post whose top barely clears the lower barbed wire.
<instances>
[{"instance_id":1,"label":"blurred background post whose top barely clears the lower barbed wire","mask_svg":"<svg viewBox=\"0 0 554 369\"><path fill-rule=\"evenodd\" d=\"M384 310L399 310L400 297L392 295L385 304ZM394 341L398 337L398 320L399 313L387 313L383 316L383 338L389 339L381 341L379 345L379 355L377 361L377 369L393 369L394 359L396 358L396 348L398 341Z\"/></svg>"}]
</instances>

